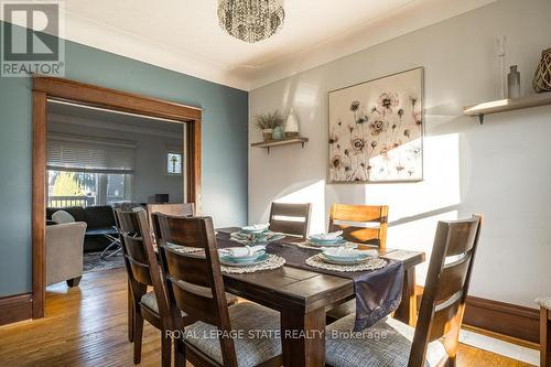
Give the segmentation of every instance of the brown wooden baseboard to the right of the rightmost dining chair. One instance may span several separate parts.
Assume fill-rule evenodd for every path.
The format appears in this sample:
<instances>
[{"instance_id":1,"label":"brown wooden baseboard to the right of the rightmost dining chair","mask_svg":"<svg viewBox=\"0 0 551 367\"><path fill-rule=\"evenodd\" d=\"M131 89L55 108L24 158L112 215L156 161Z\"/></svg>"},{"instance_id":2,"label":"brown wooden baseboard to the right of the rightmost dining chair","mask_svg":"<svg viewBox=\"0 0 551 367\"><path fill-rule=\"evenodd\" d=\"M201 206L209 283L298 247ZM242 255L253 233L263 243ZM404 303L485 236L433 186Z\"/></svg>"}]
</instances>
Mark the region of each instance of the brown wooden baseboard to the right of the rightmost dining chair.
<instances>
[{"instance_id":1,"label":"brown wooden baseboard to the right of the rightmost dining chair","mask_svg":"<svg viewBox=\"0 0 551 367\"><path fill-rule=\"evenodd\" d=\"M469 295L463 323L532 343L540 341L540 313L537 309Z\"/></svg>"}]
</instances>

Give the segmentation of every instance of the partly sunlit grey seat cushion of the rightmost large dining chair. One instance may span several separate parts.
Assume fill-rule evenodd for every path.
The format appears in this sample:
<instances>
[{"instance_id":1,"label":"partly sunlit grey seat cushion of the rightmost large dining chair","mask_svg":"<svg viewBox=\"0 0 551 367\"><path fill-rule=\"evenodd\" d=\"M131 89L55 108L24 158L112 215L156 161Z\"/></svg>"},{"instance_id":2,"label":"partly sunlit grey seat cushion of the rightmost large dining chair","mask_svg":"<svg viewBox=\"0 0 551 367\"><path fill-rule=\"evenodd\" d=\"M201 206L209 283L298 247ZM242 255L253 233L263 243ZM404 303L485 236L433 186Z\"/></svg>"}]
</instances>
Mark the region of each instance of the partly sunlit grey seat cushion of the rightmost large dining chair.
<instances>
[{"instance_id":1,"label":"partly sunlit grey seat cushion of the rightmost large dining chair","mask_svg":"<svg viewBox=\"0 0 551 367\"><path fill-rule=\"evenodd\" d=\"M326 328L326 363L335 367L403 367L408 360L414 328L387 317L359 333L353 333L355 314L336 321ZM440 341L429 344L425 367L437 366L446 357Z\"/></svg>"}]
</instances>

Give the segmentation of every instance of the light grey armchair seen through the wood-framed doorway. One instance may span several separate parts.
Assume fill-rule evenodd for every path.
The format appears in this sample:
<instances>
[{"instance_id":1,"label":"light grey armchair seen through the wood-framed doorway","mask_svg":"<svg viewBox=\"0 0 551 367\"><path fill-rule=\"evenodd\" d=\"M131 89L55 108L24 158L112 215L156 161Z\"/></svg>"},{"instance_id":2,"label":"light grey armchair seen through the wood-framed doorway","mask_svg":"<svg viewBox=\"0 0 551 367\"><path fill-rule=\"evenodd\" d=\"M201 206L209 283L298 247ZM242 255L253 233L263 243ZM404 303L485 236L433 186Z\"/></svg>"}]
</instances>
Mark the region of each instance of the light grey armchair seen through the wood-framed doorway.
<instances>
[{"instance_id":1,"label":"light grey armchair seen through the wood-framed doorway","mask_svg":"<svg viewBox=\"0 0 551 367\"><path fill-rule=\"evenodd\" d=\"M66 281L77 287L83 278L86 223L46 226L46 284Z\"/></svg>"}]
</instances>

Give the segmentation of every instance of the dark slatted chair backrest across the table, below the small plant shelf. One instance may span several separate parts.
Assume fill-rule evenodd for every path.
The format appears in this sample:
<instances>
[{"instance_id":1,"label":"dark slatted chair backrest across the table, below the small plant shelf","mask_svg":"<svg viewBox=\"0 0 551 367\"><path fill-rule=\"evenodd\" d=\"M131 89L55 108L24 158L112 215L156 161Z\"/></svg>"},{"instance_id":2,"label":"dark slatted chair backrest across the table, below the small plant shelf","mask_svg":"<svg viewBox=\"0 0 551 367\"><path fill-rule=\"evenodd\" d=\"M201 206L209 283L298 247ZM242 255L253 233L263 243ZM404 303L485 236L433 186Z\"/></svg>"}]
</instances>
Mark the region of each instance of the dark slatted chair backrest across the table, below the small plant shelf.
<instances>
[{"instance_id":1,"label":"dark slatted chair backrest across the table, below the small plant shelf","mask_svg":"<svg viewBox=\"0 0 551 367\"><path fill-rule=\"evenodd\" d=\"M306 238L312 204L272 203L270 230Z\"/></svg>"}]
</instances>

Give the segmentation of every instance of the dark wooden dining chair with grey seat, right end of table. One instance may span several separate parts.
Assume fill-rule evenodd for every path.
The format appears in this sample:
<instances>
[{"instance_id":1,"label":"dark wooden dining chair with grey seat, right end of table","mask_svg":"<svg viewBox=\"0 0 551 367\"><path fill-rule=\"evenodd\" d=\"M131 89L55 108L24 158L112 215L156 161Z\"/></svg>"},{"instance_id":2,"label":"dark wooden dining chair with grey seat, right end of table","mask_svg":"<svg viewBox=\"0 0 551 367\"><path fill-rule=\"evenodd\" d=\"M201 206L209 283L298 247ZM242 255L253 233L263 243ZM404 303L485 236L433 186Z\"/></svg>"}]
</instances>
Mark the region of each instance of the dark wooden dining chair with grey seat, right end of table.
<instances>
[{"instance_id":1,"label":"dark wooden dining chair with grey seat, right end of table","mask_svg":"<svg viewBox=\"0 0 551 367\"><path fill-rule=\"evenodd\" d=\"M331 366L455 366L480 216L439 222L415 328L387 317L353 338L355 315L327 326Z\"/></svg>"}]
</instances>

